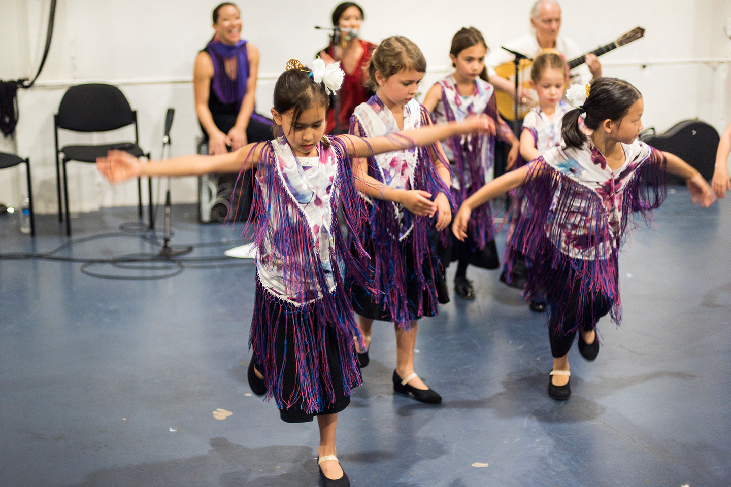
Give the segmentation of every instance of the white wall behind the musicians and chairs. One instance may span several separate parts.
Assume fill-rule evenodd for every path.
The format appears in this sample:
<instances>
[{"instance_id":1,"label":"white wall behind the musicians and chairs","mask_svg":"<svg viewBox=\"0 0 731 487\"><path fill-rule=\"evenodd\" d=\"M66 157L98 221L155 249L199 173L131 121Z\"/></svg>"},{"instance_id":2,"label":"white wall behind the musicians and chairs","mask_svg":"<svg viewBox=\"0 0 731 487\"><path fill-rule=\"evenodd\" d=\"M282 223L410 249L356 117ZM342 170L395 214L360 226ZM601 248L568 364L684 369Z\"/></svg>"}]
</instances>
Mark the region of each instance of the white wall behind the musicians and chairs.
<instances>
[{"instance_id":1,"label":"white wall behind the musicians and chairs","mask_svg":"<svg viewBox=\"0 0 731 487\"><path fill-rule=\"evenodd\" d=\"M525 33L533 0L363 0L362 37L379 42L402 34L426 55L429 72L423 91L448 68L450 39L459 28L480 28L488 45ZM39 212L56 211L53 114L69 85L105 81L119 85L137 110L140 143L159 157L167 107L175 108L173 154L192 153L200 133L193 110L193 61L211 37L211 10L219 0L59 0L56 30L37 86L20 91L17 150L31 157ZM327 36L313 26L329 24L338 3L272 0L240 1L243 37L261 51L257 106L268 112L274 80L289 58L308 62ZM604 3L604 2L602 2ZM729 0L563 0L563 34L586 50L603 45L637 25L639 41L602 57L604 74L623 77L645 96L645 126L664 131L678 120L700 117L722 131L731 121L728 64L689 62L730 57L725 32ZM50 0L0 1L0 79L34 74L42 54ZM470 19L466 21L466 19ZM645 67L643 67L645 66ZM129 137L124 129L117 139ZM107 140L96 137L94 140ZM113 139L113 138L112 138ZM61 144L89 137L63 134ZM0 150L14 151L0 137ZM21 170L0 174L0 202L18 204L24 191ZM91 165L69 165L71 208L95 210L136 203L136 185L110 188ZM177 180L176 202L196 200L193 178Z\"/></svg>"}]
</instances>

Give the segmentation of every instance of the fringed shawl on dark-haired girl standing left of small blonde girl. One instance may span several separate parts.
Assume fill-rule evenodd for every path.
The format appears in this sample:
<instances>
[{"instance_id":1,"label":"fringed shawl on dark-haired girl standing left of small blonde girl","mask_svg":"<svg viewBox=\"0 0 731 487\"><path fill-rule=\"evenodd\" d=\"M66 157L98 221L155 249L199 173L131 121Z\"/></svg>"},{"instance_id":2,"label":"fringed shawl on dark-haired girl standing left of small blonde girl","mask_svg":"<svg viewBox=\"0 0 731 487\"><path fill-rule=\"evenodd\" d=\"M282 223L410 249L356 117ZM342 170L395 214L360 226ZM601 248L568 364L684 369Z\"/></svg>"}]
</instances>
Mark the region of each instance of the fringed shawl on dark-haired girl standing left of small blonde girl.
<instances>
[{"instance_id":1,"label":"fringed shawl on dark-haired girl standing left of small blonde girl","mask_svg":"<svg viewBox=\"0 0 731 487\"><path fill-rule=\"evenodd\" d=\"M463 107L464 98L460 95L457 83L452 75L437 83L442 85L442 106L444 114L437 113L436 118L447 122L463 122L470 115L484 113L498 125L498 112L493 85L477 78L475 93L471 103ZM495 164L495 137L472 135L454 137L447 141L452 157L454 158L454 181L452 182L452 196L455 207L459 207L465 199L485 185L485 174ZM442 244L447 245L452 229L447 226L442 231ZM482 250L485 244L495 238L493 231L492 207L488 202L474 210L467 223L467 234L474 248Z\"/></svg>"}]
</instances>

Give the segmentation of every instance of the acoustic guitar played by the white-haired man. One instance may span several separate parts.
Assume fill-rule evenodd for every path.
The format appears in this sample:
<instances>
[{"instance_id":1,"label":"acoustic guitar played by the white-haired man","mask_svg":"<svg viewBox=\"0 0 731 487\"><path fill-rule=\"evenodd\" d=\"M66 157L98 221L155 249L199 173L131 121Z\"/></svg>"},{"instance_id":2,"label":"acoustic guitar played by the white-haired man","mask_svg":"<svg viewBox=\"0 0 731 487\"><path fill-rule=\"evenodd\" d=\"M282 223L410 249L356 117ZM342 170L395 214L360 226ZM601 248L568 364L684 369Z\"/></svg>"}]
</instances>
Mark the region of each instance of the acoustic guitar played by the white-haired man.
<instances>
[{"instance_id":1,"label":"acoustic guitar played by the white-haired man","mask_svg":"<svg viewBox=\"0 0 731 487\"><path fill-rule=\"evenodd\" d=\"M632 41L636 41L637 39L640 39L645 35L645 29L642 27L633 28L631 31L627 32L623 36L616 39L616 41L610 42L609 44L599 47L599 49L591 51L591 54L594 55L602 55L608 53L610 50L615 50L617 47L624 46L626 44L629 44ZM542 52L546 51L553 51L552 49L544 49ZM525 53L529 54L529 53ZM588 54L588 53L587 53ZM582 64L586 63L586 54L580 55L578 58L572 59L571 61L568 61L567 64L569 65L569 70L574 69L577 66L581 66ZM523 88L530 88L529 81L531 79L531 66L533 65L532 61L529 61L528 59L521 59L520 60L520 66L518 67L518 80L520 82L520 86L523 86ZM515 83L515 64L512 62L510 63L503 63L500 66L497 66L495 69L498 76L507 78L510 80L511 83ZM533 107L536 106L538 103L538 99L535 96L535 92L531 90L533 95L531 96L531 99L528 100L525 104L518 105L518 118L524 118L528 112L531 111ZM500 115L505 120L514 120L515 119L515 110L514 110L514 104L515 100L510 96L510 93L507 93L507 91L501 91L496 90L495 91L495 98L498 103L498 111L500 112Z\"/></svg>"}]
</instances>

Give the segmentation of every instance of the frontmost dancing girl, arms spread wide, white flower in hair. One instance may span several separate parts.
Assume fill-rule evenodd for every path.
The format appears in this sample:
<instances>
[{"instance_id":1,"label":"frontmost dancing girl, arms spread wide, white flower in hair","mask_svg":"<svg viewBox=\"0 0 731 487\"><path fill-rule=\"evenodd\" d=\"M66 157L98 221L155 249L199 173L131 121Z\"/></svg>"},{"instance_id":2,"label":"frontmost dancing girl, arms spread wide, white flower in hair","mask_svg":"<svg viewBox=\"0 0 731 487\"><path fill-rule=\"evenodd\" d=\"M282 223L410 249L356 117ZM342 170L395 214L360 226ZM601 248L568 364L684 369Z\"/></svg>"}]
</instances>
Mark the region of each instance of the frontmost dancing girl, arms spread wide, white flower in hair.
<instances>
[{"instance_id":1,"label":"frontmost dancing girl, arms spread wide, white flower in hair","mask_svg":"<svg viewBox=\"0 0 731 487\"><path fill-rule=\"evenodd\" d=\"M403 150L440 138L491 129L488 120L446 127L406 130L390 137L325 137L328 91L342 74L318 60L314 72L289 61L274 87L271 110L279 138L245 145L216 156L184 156L140 164L113 152L97 164L112 182L129 177L200 175L257 169L254 223L257 284L250 344L254 349L249 383L257 394L274 397L281 419L297 423L317 416L317 450L325 486L348 486L335 456L338 413L360 385L353 337L362 343L342 282L343 272L368 287L368 255L357 239L349 251L338 226L342 208L351 234L357 235L364 207L357 191L371 198L406 202L433 213L425 198L404 195L368 177L352 173L355 154ZM254 367L254 363L256 367ZM257 381L257 377L259 377Z\"/></svg>"}]
</instances>

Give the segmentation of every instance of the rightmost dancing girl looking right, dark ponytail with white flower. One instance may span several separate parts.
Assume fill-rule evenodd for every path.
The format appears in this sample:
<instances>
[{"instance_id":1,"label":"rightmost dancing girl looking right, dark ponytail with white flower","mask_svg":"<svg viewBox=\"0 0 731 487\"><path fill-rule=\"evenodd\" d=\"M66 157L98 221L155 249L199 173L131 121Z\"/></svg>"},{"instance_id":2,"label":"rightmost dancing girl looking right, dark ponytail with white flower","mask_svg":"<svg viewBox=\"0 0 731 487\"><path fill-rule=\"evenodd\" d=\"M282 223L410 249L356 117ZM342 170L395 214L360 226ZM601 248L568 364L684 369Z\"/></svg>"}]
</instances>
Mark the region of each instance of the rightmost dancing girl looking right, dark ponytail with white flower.
<instances>
[{"instance_id":1,"label":"rightmost dancing girl looking right, dark ponytail with white flower","mask_svg":"<svg viewBox=\"0 0 731 487\"><path fill-rule=\"evenodd\" d=\"M577 97L576 89L584 96ZM545 295L550 306L548 394L559 400L571 394L568 353L576 332L579 352L594 360L596 321L607 312L621 321L618 250L629 236L628 223L631 229L636 221L632 214L647 220L659 207L666 171L686 180L693 202L708 207L716 198L692 166L637 140L643 129L637 88L601 77L589 89L569 90L578 107L564 115L564 145L485 185L466 199L452 226L465 239L474 208L520 186L531 211L521 215L511 245L532 264L526 297ZM591 136L580 129L579 118Z\"/></svg>"}]
</instances>

